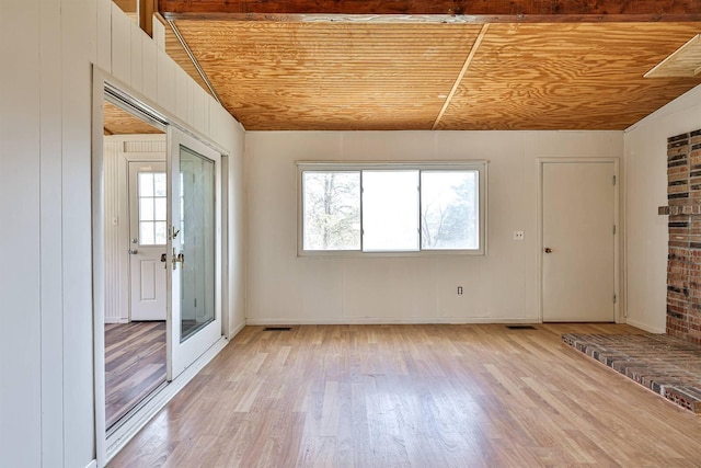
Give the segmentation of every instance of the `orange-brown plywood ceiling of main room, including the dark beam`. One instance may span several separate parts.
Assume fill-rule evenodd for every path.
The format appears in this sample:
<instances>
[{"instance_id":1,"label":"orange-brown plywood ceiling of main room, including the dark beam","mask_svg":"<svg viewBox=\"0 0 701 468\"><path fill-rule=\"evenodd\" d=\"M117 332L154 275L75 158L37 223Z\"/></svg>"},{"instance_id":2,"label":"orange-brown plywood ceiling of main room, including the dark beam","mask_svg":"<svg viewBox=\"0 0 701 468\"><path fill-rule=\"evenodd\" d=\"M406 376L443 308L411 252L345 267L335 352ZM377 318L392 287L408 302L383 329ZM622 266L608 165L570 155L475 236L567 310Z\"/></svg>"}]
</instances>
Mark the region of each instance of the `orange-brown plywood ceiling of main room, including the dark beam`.
<instances>
[{"instance_id":1,"label":"orange-brown plywood ceiling of main room, including the dark beam","mask_svg":"<svg viewBox=\"0 0 701 468\"><path fill-rule=\"evenodd\" d=\"M643 78L701 33L699 1L637 1L634 11L606 0L598 9L468 3L161 0L159 8L173 27L169 53L203 81L176 30L248 130L620 130L701 83ZM456 15L468 8L476 14Z\"/></svg>"}]
</instances>

